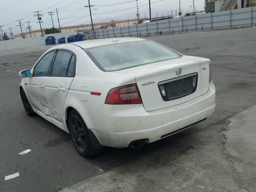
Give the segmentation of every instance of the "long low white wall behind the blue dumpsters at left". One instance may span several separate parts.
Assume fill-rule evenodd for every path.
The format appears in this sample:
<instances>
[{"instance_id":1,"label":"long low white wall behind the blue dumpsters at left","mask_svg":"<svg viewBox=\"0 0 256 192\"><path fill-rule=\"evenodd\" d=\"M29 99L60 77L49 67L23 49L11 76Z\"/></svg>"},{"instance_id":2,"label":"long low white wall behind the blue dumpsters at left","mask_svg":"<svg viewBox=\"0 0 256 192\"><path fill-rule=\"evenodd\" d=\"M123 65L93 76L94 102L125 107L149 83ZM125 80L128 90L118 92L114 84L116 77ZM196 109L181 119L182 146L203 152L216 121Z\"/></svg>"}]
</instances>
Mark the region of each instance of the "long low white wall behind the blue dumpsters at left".
<instances>
[{"instance_id":1,"label":"long low white wall behind the blue dumpsters at left","mask_svg":"<svg viewBox=\"0 0 256 192\"><path fill-rule=\"evenodd\" d=\"M44 37L0 41L0 51L18 49L18 48L24 48L24 47L42 46L42 45L45 45L45 39L48 36L54 36L56 39L56 43L58 43L58 39L62 37L65 37L66 42L68 42L67 41L68 36L75 35L75 34L77 34L77 32L54 33L54 34L47 34Z\"/></svg>"}]
</instances>

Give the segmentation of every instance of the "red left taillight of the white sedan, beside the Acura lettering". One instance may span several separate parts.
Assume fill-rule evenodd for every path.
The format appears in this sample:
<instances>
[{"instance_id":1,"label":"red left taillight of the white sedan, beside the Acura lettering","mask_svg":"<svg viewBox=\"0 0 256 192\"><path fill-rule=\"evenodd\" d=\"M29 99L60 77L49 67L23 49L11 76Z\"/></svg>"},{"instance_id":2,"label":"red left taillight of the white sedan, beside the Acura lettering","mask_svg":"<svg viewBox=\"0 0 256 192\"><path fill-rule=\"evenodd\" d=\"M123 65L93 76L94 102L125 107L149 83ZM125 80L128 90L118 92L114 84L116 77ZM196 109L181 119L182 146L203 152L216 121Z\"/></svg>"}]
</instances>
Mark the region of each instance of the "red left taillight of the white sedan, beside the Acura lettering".
<instances>
[{"instance_id":1,"label":"red left taillight of the white sedan, beside the Acura lettering","mask_svg":"<svg viewBox=\"0 0 256 192\"><path fill-rule=\"evenodd\" d=\"M137 84L129 84L111 89L105 104L140 104L142 103Z\"/></svg>"}]
</instances>

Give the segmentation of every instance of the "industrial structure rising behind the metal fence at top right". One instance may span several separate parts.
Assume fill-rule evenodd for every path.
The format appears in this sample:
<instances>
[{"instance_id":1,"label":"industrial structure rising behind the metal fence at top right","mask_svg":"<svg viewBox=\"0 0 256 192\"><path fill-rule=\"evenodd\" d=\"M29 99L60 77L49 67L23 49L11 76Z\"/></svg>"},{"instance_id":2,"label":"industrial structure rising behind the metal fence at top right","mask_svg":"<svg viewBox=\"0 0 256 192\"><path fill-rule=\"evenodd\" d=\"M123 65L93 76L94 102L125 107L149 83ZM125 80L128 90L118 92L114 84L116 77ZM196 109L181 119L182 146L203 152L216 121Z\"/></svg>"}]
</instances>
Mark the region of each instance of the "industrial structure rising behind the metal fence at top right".
<instances>
[{"instance_id":1,"label":"industrial structure rising behind the metal fence at top right","mask_svg":"<svg viewBox=\"0 0 256 192\"><path fill-rule=\"evenodd\" d=\"M256 6L256 0L205 0L205 12L226 11Z\"/></svg>"}]
</instances>

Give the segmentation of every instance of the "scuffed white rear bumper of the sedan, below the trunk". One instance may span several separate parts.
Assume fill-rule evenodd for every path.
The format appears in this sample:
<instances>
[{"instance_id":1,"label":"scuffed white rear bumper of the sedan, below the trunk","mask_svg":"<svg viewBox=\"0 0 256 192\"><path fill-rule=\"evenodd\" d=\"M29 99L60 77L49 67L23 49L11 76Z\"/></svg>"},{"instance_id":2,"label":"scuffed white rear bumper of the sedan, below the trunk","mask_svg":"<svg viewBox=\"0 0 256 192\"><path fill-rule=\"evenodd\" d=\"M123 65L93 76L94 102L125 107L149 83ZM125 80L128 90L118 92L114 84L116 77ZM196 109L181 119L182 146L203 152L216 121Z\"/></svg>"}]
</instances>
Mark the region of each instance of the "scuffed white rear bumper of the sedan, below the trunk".
<instances>
[{"instance_id":1,"label":"scuffed white rear bumper of the sedan, below the trunk","mask_svg":"<svg viewBox=\"0 0 256 192\"><path fill-rule=\"evenodd\" d=\"M210 118L215 109L215 86L208 92L183 104L146 112L142 104L104 105L102 128L92 130L100 144L116 148L127 147L134 140L160 140Z\"/></svg>"}]
</instances>

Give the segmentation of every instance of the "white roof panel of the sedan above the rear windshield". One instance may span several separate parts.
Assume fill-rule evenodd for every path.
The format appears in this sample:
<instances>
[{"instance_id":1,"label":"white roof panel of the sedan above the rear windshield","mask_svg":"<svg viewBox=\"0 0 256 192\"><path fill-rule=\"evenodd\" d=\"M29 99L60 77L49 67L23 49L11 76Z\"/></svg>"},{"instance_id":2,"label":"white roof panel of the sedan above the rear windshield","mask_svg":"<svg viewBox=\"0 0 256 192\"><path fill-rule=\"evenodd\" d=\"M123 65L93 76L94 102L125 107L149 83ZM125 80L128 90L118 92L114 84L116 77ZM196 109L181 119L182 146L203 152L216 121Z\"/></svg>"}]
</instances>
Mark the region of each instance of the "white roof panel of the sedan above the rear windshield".
<instances>
[{"instance_id":1,"label":"white roof panel of the sedan above the rear windshield","mask_svg":"<svg viewBox=\"0 0 256 192\"><path fill-rule=\"evenodd\" d=\"M146 39L136 38L136 37L117 37L117 38L104 38L104 39L92 39L92 40L84 40L78 42L72 42L69 44L80 46L83 49L98 47L103 45L110 45L116 43L124 43L124 42L133 42L133 41L143 41Z\"/></svg>"}]
</instances>

